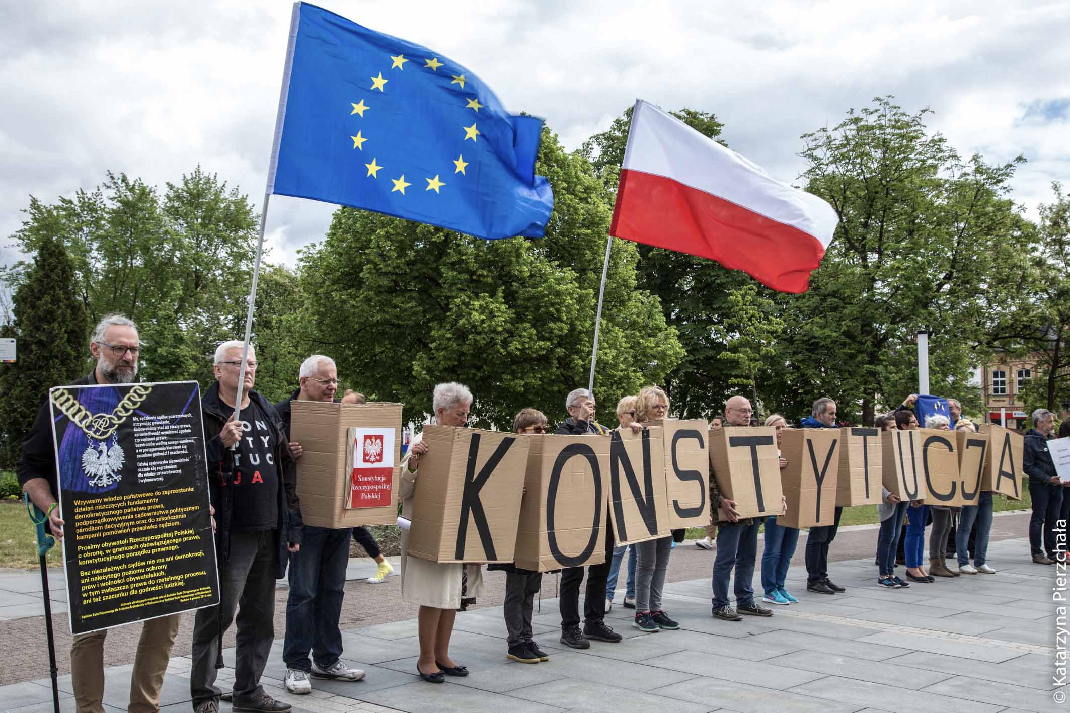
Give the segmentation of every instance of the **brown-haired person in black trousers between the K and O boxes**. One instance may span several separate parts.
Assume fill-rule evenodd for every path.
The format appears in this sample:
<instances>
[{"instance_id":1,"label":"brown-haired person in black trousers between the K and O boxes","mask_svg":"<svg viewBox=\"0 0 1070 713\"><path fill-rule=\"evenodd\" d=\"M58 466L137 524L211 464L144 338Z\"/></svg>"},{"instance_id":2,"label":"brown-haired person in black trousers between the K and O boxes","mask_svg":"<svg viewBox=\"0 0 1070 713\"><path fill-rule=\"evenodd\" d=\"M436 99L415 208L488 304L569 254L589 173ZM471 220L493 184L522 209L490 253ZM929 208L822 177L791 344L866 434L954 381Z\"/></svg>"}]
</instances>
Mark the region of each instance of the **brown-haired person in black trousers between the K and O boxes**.
<instances>
[{"instance_id":1,"label":"brown-haired person in black trousers between the K and O boxes","mask_svg":"<svg viewBox=\"0 0 1070 713\"><path fill-rule=\"evenodd\" d=\"M513 419L514 433L541 435L547 433L547 420L542 412L524 408ZM528 490L524 489L524 497ZM535 611L535 594L542 585L542 575L519 568L514 562L488 564L489 571L505 572L505 601L502 613L508 633L506 657L522 664L537 664L550 661L550 655L538 648L532 633L532 615Z\"/></svg>"}]
</instances>

